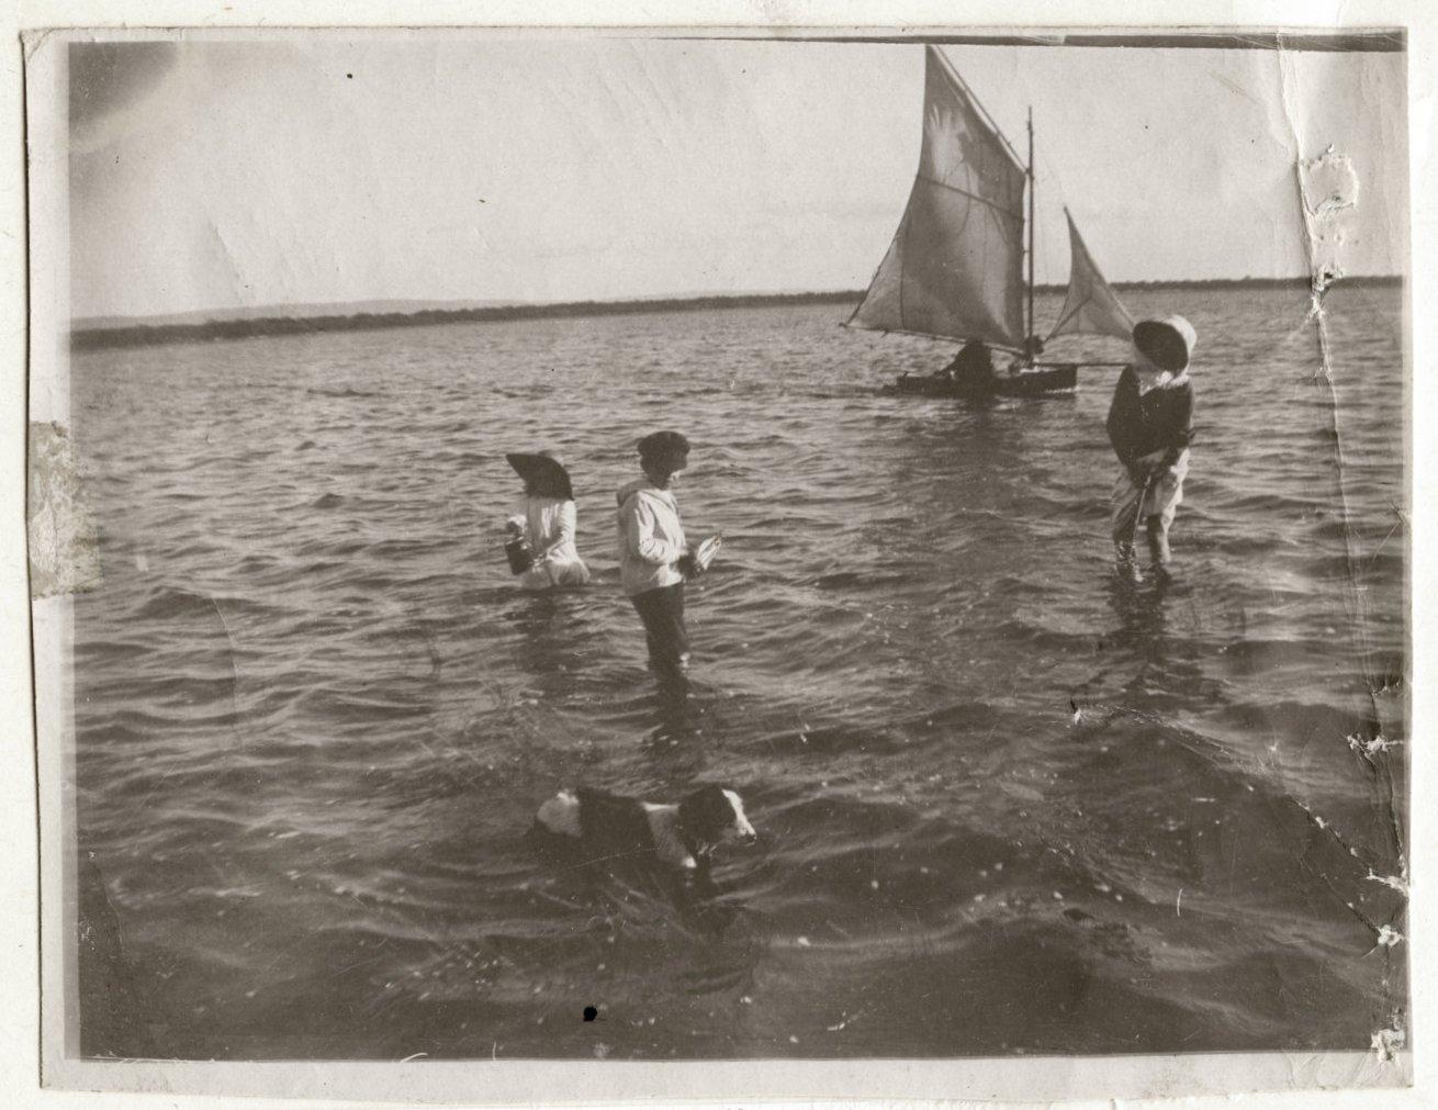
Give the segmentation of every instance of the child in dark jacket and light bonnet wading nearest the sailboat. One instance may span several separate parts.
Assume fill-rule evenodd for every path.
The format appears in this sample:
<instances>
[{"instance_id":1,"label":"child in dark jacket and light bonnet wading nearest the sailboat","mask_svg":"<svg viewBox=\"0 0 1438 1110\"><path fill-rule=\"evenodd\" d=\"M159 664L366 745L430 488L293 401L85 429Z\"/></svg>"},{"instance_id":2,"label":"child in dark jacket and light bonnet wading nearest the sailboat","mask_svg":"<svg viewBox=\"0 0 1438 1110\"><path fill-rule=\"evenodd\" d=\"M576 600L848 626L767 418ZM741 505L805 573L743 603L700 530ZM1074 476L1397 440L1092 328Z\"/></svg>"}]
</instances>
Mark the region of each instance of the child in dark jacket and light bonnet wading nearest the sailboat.
<instances>
[{"instance_id":1,"label":"child in dark jacket and light bonnet wading nearest the sailboat","mask_svg":"<svg viewBox=\"0 0 1438 1110\"><path fill-rule=\"evenodd\" d=\"M1133 551L1140 522L1155 575L1169 577L1168 531L1183 500L1194 439L1188 365L1196 339L1182 316L1142 321L1133 329L1133 362L1119 375L1109 407L1109 441L1123 463L1113 486L1113 546L1119 574L1135 582L1143 579Z\"/></svg>"}]
</instances>

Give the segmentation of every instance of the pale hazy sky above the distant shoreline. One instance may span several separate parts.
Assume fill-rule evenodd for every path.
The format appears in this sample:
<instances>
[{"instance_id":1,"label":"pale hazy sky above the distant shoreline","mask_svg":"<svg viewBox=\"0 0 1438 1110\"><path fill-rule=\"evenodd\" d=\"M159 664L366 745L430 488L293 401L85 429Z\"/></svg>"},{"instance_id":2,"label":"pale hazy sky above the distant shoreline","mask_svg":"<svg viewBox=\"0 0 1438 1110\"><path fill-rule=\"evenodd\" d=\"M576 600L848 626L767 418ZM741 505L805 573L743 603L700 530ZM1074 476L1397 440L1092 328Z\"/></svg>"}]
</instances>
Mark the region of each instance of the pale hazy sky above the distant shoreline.
<instances>
[{"instance_id":1,"label":"pale hazy sky above the distant shoreline","mask_svg":"<svg viewBox=\"0 0 1438 1110\"><path fill-rule=\"evenodd\" d=\"M1405 56L946 46L1110 280L1307 272L1296 158L1350 158L1349 273L1406 269ZM288 33L70 47L72 315L861 289L923 46Z\"/></svg>"}]
</instances>

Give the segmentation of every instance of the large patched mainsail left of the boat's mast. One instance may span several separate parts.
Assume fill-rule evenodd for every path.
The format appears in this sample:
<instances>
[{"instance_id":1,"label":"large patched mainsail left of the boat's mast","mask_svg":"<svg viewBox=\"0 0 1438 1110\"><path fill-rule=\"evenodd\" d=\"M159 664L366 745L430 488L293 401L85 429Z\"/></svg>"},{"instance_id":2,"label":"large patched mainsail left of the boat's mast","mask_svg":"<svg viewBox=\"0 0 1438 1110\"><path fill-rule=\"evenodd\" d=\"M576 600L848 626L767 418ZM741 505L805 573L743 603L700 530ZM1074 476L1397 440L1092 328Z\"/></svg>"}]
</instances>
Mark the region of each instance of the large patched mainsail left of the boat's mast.
<instances>
[{"instance_id":1,"label":"large patched mainsail left of the boat's mast","mask_svg":"<svg viewBox=\"0 0 1438 1110\"><path fill-rule=\"evenodd\" d=\"M923 81L923 151L909 207L848 322L1018 349L1027 171L933 46L925 47Z\"/></svg>"}]
</instances>

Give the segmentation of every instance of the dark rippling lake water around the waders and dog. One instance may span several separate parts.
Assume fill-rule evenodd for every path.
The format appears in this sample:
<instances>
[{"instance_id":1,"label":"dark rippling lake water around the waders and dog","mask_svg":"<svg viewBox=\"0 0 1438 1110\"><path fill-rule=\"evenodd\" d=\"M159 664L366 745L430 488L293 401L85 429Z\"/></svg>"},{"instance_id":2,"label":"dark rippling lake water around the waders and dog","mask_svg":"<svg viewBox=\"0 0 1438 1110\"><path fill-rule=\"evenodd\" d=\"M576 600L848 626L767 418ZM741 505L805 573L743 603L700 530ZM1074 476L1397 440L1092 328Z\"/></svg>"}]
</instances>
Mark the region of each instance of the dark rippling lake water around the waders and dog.
<instances>
[{"instance_id":1,"label":"dark rippling lake water around the waders and dog","mask_svg":"<svg viewBox=\"0 0 1438 1110\"><path fill-rule=\"evenodd\" d=\"M844 306L76 355L104 569L75 602L85 1051L1163 1052L1403 1024L1378 933L1406 932L1380 881L1406 858L1402 293L1333 292L1332 381L1299 290L1129 303L1199 334L1166 590L1112 575L1117 371L881 395L952 348L841 331ZM726 539L687 692L646 669L614 554L659 427L695 444L690 533ZM503 451L539 447L594 571L554 597L500 549ZM716 897L525 837L565 785L702 782L761 831Z\"/></svg>"}]
</instances>

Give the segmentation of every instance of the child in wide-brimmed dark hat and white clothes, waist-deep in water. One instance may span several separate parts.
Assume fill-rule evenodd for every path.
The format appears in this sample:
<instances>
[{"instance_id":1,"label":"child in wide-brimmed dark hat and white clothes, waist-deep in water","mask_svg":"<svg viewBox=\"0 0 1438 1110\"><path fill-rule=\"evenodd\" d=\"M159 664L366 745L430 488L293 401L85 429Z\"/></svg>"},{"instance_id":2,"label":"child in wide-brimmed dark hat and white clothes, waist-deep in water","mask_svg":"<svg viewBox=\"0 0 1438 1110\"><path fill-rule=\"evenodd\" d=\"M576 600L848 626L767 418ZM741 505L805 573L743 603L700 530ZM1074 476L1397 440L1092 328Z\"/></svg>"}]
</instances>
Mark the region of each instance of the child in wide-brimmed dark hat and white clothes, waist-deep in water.
<instances>
[{"instance_id":1,"label":"child in wide-brimmed dark hat and white clothes, waist-deep in water","mask_svg":"<svg viewBox=\"0 0 1438 1110\"><path fill-rule=\"evenodd\" d=\"M578 513L569 472L554 451L513 453L505 459L523 479L525 496L509 520L510 542L505 545L510 568L525 562L512 549L528 548L528 565L516 569L521 590L551 590L557 585L584 585L590 569L574 543ZM518 541L522 541L518 542Z\"/></svg>"}]
</instances>

